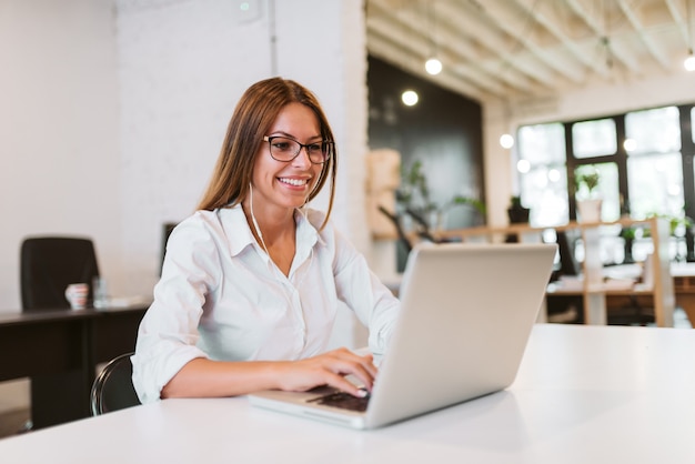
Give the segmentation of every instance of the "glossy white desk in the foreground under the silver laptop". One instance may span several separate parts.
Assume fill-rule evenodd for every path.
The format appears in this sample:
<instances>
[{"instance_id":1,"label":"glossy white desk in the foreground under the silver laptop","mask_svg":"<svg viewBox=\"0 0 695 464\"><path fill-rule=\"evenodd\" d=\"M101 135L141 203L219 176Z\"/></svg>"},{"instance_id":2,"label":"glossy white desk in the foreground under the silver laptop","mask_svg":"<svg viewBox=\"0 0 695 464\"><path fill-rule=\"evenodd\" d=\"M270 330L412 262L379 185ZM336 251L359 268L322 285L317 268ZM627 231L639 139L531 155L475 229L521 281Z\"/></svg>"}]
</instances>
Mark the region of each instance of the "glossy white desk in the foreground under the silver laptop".
<instances>
[{"instance_id":1,"label":"glossy white desk in the foreground under the silver laptop","mask_svg":"<svg viewBox=\"0 0 695 464\"><path fill-rule=\"evenodd\" d=\"M371 432L168 400L0 440L3 463L694 463L695 331L536 325L507 391Z\"/></svg>"}]
</instances>

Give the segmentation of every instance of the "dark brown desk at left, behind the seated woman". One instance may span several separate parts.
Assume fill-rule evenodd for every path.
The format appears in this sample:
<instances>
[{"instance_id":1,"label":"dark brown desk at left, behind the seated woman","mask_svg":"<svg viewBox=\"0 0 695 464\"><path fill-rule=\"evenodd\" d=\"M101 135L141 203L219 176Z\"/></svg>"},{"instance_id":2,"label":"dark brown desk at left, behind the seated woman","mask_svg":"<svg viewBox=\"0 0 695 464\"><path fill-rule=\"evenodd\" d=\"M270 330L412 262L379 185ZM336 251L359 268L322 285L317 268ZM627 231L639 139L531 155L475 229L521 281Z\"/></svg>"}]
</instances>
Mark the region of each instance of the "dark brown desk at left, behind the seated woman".
<instances>
[{"instance_id":1,"label":"dark brown desk at left, behind the seated woman","mask_svg":"<svg viewBox=\"0 0 695 464\"><path fill-rule=\"evenodd\" d=\"M0 315L0 381L31 377L36 428L89 416L97 365L133 351L147 309Z\"/></svg>"}]
</instances>

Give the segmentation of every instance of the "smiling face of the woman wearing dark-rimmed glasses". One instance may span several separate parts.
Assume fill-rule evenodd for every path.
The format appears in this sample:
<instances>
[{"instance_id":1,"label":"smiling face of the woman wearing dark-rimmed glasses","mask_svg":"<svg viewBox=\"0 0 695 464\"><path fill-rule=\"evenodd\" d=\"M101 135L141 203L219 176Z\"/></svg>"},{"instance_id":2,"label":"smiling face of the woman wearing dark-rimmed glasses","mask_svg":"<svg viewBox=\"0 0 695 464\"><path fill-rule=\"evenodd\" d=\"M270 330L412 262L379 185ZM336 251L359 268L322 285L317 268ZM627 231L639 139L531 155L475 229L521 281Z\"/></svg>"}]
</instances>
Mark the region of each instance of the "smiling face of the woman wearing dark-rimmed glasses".
<instances>
[{"instance_id":1,"label":"smiling face of the woman wearing dark-rimmed glasses","mask_svg":"<svg viewBox=\"0 0 695 464\"><path fill-rule=\"evenodd\" d=\"M284 107L265 134L282 137L302 144L321 142L319 121L311 109L301 103ZM302 148L292 161L276 161L271 157L270 143L261 143L253 168L253 209L301 208L315 185L323 164L309 160Z\"/></svg>"}]
</instances>

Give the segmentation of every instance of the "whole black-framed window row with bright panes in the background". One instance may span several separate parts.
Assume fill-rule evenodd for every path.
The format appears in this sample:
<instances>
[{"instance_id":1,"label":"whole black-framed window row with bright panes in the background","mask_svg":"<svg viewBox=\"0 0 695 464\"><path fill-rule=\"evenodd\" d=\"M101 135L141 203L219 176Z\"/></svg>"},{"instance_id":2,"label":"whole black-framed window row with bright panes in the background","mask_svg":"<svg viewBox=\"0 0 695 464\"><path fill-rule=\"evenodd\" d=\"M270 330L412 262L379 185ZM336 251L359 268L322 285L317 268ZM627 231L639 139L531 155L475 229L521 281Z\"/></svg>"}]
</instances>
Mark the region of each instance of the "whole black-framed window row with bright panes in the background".
<instances>
[{"instance_id":1,"label":"whole black-framed window row with bright panes in the background","mask_svg":"<svg viewBox=\"0 0 695 464\"><path fill-rule=\"evenodd\" d=\"M623 214L695 218L694 120L695 105L686 104L520 128L518 185L531 224L576 219L575 185L568 180L583 167L601 173L604 221Z\"/></svg>"}]
</instances>

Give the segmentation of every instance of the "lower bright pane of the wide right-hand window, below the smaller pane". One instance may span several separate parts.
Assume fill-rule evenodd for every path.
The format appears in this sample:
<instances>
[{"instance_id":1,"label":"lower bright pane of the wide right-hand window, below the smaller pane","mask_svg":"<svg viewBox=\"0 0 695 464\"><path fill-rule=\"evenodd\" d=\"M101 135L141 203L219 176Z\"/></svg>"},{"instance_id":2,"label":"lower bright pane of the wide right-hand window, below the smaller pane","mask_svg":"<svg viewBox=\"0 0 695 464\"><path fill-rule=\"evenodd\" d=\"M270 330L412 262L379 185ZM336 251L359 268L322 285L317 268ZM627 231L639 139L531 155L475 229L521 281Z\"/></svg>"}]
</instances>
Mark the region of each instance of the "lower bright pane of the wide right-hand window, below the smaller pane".
<instances>
[{"instance_id":1,"label":"lower bright pane of the wide right-hand window, below the smaller pane","mask_svg":"<svg viewBox=\"0 0 695 464\"><path fill-rule=\"evenodd\" d=\"M627 183L633 218L682 215L685 203L681 153L628 158Z\"/></svg>"}]
</instances>

